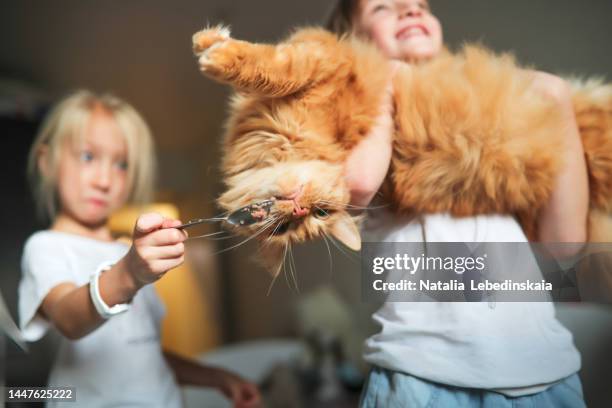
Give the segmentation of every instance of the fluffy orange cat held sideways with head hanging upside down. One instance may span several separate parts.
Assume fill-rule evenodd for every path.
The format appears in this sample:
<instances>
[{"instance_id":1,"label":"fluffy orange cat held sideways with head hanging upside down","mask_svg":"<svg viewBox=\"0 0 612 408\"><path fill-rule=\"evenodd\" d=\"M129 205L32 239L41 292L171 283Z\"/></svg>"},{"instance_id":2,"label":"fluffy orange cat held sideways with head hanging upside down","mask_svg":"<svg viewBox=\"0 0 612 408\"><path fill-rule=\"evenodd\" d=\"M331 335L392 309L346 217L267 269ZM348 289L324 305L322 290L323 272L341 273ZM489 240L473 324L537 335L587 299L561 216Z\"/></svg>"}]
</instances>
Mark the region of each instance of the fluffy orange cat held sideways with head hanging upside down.
<instances>
[{"instance_id":1,"label":"fluffy orange cat held sideways with head hanging upside down","mask_svg":"<svg viewBox=\"0 0 612 408\"><path fill-rule=\"evenodd\" d=\"M378 116L388 60L372 45L316 28L264 45L219 27L196 33L193 44L202 72L237 91L219 204L277 200L271 219L241 230L265 239L268 268L279 272L292 242L331 235L359 249L343 163ZM408 214L515 214L533 233L560 168L562 121L513 58L466 46L403 65L393 86L387 202ZM589 239L609 241L612 86L577 86L575 109L590 174Z\"/></svg>"}]
</instances>

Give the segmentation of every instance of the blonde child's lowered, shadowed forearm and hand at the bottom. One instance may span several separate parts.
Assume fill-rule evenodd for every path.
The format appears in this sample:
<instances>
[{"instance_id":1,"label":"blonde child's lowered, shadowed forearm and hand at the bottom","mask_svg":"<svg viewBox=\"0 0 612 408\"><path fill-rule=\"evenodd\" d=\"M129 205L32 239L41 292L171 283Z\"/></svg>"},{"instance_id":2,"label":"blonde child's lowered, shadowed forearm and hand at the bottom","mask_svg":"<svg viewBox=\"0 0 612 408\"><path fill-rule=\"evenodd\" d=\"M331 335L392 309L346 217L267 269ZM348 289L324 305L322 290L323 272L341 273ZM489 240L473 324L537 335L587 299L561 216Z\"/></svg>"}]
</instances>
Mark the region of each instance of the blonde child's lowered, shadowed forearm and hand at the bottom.
<instances>
[{"instance_id":1,"label":"blonde child's lowered, shadowed forearm and hand at the bottom","mask_svg":"<svg viewBox=\"0 0 612 408\"><path fill-rule=\"evenodd\" d=\"M198 364L168 351L164 351L164 357L181 385L216 388L232 400L235 407L258 407L261 404L257 386L236 374L222 368Z\"/></svg>"}]
</instances>

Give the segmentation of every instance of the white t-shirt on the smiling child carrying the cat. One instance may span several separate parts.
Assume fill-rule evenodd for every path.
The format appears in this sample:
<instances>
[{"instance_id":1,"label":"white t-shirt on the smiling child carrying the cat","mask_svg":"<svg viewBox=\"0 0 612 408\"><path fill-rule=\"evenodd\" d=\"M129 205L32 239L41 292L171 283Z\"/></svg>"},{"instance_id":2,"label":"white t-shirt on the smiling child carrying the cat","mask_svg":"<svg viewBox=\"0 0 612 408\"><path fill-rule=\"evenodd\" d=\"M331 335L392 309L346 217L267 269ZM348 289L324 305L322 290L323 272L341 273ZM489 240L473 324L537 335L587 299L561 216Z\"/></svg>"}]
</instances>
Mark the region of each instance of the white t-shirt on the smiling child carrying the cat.
<instances>
[{"instance_id":1,"label":"white t-shirt on the smiling child carrying the cat","mask_svg":"<svg viewBox=\"0 0 612 408\"><path fill-rule=\"evenodd\" d=\"M368 219L363 236L421 242L423 233L427 242L527 241L508 216L434 214L421 223L386 212ZM550 302L385 302L373 319L381 329L367 339L365 360L433 382L519 396L580 369L572 335Z\"/></svg>"}]
</instances>

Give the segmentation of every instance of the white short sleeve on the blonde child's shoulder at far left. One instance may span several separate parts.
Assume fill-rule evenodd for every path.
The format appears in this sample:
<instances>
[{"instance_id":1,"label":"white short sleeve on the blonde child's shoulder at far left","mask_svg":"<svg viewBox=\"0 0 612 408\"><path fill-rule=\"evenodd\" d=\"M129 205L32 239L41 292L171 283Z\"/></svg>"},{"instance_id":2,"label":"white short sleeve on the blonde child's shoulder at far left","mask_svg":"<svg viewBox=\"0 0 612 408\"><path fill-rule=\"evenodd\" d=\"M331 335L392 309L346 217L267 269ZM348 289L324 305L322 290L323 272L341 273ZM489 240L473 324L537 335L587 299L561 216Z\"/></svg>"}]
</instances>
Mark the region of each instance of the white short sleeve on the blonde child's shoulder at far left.
<instances>
[{"instance_id":1,"label":"white short sleeve on the blonde child's shoulder at far left","mask_svg":"<svg viewBox=\"0 0 612 408\"><path fill-rule=\"evenodd\" d=\"M19 326L27 341L39 340L50 323L38 309L49 291L60 283L75 282L62 242L50 234L32 235L25 244L19 282Z\"/></svg>"}]
</instances>

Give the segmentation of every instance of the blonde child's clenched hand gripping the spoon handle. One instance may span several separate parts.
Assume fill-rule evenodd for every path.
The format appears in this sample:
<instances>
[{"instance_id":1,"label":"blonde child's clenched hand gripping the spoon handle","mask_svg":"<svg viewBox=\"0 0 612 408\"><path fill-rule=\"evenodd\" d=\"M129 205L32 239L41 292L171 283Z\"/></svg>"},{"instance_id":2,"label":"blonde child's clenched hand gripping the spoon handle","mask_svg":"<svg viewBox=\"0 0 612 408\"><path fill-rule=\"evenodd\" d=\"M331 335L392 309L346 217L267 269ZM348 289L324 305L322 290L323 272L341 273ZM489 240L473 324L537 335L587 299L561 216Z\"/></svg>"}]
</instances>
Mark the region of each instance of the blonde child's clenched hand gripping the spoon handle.
<instances>
[{"instance_id":1,"label":"blonde child's clenched hand gripping the spoon handle","mask_svg":"<svg viewBox=\"0 0 612 408\"><path fill-rule=\"evenodd\" d=\"M170 269L183 263L187 238L185 232L172 228L178 220L149 213L138 217L133 242L125 256L127 271L136 287L155 282Z\"/></svg>"}]
</instances>

